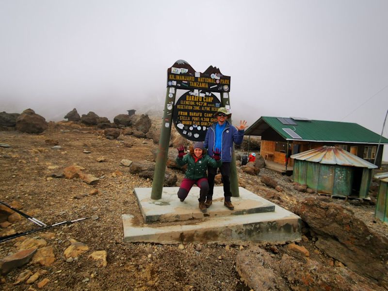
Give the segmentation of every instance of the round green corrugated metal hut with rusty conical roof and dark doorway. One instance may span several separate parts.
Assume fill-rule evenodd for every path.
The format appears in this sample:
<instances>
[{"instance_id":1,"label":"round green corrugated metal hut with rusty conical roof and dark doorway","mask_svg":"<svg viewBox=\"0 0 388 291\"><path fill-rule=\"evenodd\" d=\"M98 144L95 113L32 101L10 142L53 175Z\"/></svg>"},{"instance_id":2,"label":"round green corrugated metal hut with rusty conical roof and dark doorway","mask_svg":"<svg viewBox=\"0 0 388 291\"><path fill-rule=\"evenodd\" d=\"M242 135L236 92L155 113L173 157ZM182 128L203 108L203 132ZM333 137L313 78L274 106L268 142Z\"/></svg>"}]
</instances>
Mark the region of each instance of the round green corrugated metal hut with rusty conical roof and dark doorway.
<instances>
[{"instance_id":1,"label":"round green corrugated metal hut with rusty conical roof and dark doorway","mask_svg":"<svg viewBox=\"0 0 388 291\"><path fill-rule=\"evenodd\" d=\"M367 162L337 146L321 146L291 156L294 159L293 179L332 196L366 198L372 169Z\"/></svg>"}]
</instances>

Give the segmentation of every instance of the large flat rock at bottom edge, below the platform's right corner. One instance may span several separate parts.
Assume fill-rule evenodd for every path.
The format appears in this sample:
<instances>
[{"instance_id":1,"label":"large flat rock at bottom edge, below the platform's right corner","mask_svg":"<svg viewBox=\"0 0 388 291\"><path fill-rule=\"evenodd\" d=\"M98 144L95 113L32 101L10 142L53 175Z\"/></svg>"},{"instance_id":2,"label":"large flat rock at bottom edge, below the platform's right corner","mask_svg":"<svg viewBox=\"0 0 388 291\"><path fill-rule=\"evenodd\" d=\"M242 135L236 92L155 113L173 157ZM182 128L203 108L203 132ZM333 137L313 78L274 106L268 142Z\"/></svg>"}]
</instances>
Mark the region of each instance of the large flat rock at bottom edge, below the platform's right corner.
<instances>
[{"instance_id":1,"label":"large flat rock at bottom edge, below the platform's right corner","mask_svg":"<svg viewBox=\"0 0 388 291\"><path fill-rule=\"evenodd\" d=\"M257 246L238 252L236 270L253 290L384 290L348 268L325 266L314 259L301 262L297 255L276 259Z\"/></svg>"}]
</instances>

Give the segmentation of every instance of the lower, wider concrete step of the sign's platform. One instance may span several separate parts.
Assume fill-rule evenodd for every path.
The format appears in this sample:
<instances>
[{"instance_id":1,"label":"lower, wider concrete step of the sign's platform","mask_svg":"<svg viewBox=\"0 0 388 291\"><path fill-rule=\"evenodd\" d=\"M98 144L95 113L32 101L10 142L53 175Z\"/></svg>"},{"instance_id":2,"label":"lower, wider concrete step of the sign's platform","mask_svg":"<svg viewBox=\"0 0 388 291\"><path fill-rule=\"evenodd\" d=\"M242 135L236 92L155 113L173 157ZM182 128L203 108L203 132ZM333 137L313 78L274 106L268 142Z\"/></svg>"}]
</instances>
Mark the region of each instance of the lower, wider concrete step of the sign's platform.
<instances>
[{"instance_id":1,"label":"lower, wider concrete step of the sign's platform","mask_svg":"<svg viewBox=\"0 0 388 291\"><path fill-rule=\"evenodd\" d=\"M301 239L300 217L278 206L274 212L214 217L189 225L136 226L132 215L122 218L125 242L241 244Z\"/></svg>"}]
</instances>

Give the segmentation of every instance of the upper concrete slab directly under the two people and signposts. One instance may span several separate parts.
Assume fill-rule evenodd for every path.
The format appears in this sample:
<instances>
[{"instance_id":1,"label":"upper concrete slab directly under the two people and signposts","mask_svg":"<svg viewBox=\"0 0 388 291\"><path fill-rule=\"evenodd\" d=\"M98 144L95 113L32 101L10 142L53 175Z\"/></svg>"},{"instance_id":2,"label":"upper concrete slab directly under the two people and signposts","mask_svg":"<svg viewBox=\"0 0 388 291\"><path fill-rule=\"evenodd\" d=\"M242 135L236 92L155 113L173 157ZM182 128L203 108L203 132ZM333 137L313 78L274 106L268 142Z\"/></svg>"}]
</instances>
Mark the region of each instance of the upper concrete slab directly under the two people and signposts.
<instances>
[{"instance_id":1,"label":"upper concrete slab directly under the two people and signposts","mask_svg":"<svg viewBox=\"0 0 388 291\"><path fill-rule=\"evenodd\" d=\"M199 188L193 187L184 202L180 202L178 187L164 187L162 198L151 199L152 188L135 188L134 192L146 223L187 221L204 217L219 217L250 213L272 212L275 204L239 187L240 197L232 197L234 210L224 206L223 187L214 187L213 204L203 213L198 208Z\"/></svg>"}]
</instances>

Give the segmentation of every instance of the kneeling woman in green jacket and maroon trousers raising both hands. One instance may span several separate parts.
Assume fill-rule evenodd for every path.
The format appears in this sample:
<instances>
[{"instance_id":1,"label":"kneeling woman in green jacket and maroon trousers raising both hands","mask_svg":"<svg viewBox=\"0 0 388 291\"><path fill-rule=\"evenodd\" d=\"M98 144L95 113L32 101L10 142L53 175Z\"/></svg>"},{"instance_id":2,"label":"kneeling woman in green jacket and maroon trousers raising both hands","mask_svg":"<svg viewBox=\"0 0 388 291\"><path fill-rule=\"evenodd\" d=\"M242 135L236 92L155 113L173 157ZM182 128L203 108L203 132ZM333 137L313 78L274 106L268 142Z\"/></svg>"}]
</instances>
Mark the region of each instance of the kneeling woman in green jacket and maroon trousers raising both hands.
<instances>
[{"instance_id":1,"label":"kneeling woman in green jacket and maroon trousers raising both hands","mask_svg":"<svg viewBox=\"0 0 388 291\"><path fill-rule=\"evenodd\" d=\"M205 148L202 142L196 142L194 146L190 146L190 154L184 153L184 146L178 148L177 164L183 166L187 163L187 170L185 178L180 184L178 197L180 201L184 201L189 194L190 189L196 184L199 188L199 209L206 212L205 200L209 191L208 178L206 177L206 170L208 166L219 168L222 165L220 159L220 151L216 149L213 157L206 155Z\"/></svg>"}]
</instances>

